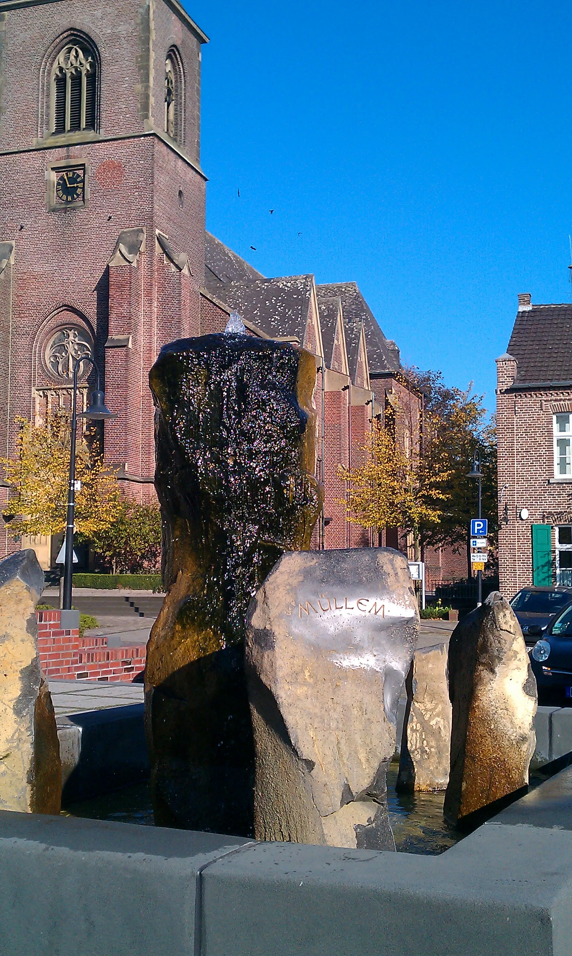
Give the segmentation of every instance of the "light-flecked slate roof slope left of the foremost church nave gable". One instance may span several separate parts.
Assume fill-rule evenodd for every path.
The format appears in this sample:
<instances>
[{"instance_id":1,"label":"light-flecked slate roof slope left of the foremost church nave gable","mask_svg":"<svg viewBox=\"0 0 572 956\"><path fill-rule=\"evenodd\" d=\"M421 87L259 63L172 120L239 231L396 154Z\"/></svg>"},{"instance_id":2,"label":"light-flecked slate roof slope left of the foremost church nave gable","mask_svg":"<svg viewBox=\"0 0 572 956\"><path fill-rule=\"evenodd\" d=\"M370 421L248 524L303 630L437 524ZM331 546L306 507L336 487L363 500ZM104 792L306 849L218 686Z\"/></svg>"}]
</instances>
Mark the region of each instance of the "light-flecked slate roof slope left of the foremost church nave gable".
<instances>
[{"instance_id":1,"label":"light-flecked slate roof slope left of the foremost church nave gable","mask_svg":"<svg viewBox=\"0 0 572 956\"><path fill-rule=\"evenodd\" d=\"M313 286L313 275L259 278L226 285L207 283L210 293L236 309L267 336L296 337L300 344L304 341Z\"/></svg>"}]
</instances>

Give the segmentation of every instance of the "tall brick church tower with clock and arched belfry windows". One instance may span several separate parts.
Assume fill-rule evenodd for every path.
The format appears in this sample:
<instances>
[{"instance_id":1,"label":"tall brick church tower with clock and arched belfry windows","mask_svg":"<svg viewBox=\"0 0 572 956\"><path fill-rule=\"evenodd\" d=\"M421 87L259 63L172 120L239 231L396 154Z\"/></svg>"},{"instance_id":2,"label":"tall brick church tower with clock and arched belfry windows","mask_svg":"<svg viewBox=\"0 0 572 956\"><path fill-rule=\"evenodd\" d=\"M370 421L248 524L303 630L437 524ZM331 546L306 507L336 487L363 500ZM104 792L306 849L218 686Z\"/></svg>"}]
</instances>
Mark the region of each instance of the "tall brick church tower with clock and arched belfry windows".
<instances>
[{"instance_id":1,"label":"tall brick church tower with clock and arched belfry windows","mask_svg":"<svg viewBox=\"0 0 572 956\"><path fill-rule=\"evenodd\" d=\"M16 417L69 407L90 354L118 413L105 458L140 500L148 370L200 334L206 40L177 0L0 2L0 454ZM87 365L80 380L81 404Z\"/></svg>"}]
</instances>

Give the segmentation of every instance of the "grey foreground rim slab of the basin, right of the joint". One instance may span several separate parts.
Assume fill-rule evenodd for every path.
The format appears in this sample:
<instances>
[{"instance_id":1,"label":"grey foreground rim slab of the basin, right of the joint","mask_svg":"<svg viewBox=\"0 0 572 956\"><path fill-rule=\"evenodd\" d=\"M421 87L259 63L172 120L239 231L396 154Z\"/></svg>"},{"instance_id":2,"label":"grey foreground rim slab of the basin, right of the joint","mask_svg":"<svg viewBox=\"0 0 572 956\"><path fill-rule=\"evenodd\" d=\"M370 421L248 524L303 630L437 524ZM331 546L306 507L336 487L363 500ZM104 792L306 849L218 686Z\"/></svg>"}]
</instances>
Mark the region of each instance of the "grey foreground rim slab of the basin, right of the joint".
<instances>
[{"instance_id":1,"label":"grey foreground rim slab of the basin, right of the joint","mask_svg":"<svg viewBox=\"0 0 572 956\"><path fill-rule=\"evenodd\" d=\"M442 857L262 844L202 876L204 956L564 956L572 834L483 827Z\"/></svg>"}]
</instances>

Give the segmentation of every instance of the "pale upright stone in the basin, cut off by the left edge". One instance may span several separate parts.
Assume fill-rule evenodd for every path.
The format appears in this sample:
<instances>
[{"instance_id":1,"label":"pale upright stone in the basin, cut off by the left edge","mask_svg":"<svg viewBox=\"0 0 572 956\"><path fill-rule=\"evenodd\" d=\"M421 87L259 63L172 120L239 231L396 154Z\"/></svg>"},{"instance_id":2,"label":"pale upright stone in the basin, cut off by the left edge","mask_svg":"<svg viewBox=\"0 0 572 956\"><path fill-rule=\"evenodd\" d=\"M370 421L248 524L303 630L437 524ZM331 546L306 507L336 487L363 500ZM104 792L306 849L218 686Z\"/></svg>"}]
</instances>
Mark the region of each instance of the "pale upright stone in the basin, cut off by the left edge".
<instances>
[{"instance_id":1,"label":"pale upright stone in the basin, cut off by the left edge","mask_svg":"<svg viewBox=\"0 0 572 956\"><path fill-rule=\"evenodd\" d=\"M32 550L0 561L0 810L58 814L59 745L34 610L43 588Z\"/></svg>"}]
</instances>

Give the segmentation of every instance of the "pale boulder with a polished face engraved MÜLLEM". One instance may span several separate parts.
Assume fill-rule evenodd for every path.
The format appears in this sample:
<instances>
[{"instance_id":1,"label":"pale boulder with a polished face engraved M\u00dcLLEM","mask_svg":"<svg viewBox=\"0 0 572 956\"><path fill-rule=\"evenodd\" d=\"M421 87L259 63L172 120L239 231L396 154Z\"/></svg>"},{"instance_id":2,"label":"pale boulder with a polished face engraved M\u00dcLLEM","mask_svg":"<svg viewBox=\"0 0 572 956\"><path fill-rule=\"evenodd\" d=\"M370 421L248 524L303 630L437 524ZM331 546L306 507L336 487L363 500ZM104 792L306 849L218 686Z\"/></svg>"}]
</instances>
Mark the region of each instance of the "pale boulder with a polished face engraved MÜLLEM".
<instances>
[{"instance_id":1,"label":"pale boulder with a polished face engraved M\u00dcLLEM","mask_svg":"<svg viewBox=\"0 0 572 956\"><path fill-rule=\"evenodd\" d=\"M394 849L385 771L418 619L396 551L280 559L247 636L258 839Z\"/></svg>"}]
</instances>

